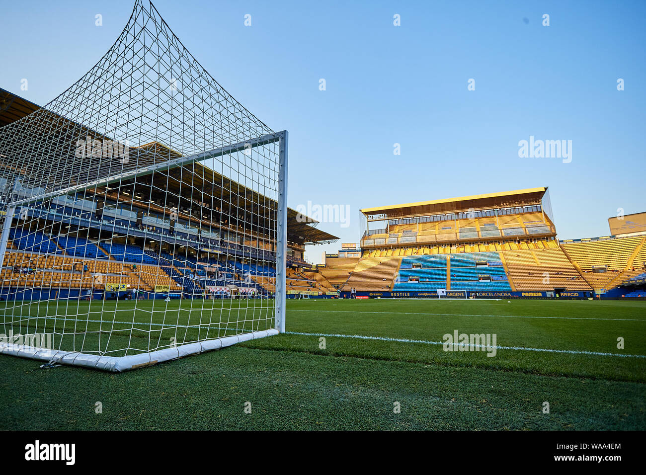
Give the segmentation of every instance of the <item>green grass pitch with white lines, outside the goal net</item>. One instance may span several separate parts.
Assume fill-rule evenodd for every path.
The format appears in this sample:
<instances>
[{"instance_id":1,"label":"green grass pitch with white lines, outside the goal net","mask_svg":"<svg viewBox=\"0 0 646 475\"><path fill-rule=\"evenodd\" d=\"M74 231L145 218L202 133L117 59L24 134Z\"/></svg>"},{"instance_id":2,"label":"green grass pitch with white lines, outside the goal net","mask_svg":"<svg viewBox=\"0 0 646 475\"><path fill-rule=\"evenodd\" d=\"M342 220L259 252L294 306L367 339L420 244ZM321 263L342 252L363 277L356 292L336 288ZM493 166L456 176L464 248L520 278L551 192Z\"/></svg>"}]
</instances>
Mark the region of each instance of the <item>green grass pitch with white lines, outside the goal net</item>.
<instances>
[{"instance_id":1,"label":"green grass pitch with white lines, outside the goal net","mask_svg":"<svg viewBox=\"0 0 646 475\"><path fill-rule=\"evenodd\" d=\"M455 330L495 356L444 351ZM646 302L288 301L286 334L123 374L0 356L0 428L644 430L645 333Z\"/></svg>"}]
</instances>

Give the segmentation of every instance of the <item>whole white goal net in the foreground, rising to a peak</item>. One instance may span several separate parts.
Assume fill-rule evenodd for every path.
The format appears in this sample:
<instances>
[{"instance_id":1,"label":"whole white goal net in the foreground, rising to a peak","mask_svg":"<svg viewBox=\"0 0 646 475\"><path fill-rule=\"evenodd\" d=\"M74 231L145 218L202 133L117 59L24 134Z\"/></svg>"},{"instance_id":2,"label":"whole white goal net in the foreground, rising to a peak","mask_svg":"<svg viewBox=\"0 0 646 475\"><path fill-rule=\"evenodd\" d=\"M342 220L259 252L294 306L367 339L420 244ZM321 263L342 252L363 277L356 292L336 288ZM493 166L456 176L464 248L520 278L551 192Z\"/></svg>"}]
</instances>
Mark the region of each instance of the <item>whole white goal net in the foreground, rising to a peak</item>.
<instances>
[{"instance_id":1,"label":"whole white goal net in the foreground, rising to a peak","mask_svg":"<svg viewBox=\"0 0 646 475\"><path fill-rule=\"evenodd\" d=\"M0 353L123 371L284 331L287 132L152 4L0 168Z\"/></svg>"}]
</instances>

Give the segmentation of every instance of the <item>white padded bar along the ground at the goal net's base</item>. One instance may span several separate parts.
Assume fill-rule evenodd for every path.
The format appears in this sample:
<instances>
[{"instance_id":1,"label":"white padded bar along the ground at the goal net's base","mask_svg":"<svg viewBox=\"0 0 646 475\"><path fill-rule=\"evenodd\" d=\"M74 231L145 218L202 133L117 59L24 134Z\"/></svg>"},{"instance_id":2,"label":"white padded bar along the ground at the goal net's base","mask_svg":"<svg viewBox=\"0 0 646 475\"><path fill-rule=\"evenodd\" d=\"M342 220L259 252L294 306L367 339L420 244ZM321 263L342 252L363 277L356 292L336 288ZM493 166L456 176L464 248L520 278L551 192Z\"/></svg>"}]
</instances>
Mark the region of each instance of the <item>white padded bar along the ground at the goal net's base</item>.
<instances>
[{"instance_id":1,"label":"white padded bar along the ground at the goal net's base","mask_svg":"<svg viewBox=\"0 0 646 475\"><path fill-rule=\"evenodd\" d=\"M188 355L218 350L225 346L242 343L243 341L256 340L258 338L278 335L278 330L261 330L259 332L242 333L231 337L222 337L214 340L200 341L197 343L183 344L174 348L164 348L150 353L139 353L127 356L101 356L85 353L64 352L62 350L47 350L24 344L0 343L0 354L13 355L23 358L39 359L41 361L52 361L57 364L72 364L73 366L86 366L97 370L122 372L134 370L143 366L170 361Z\"/></svg>"}]
</instances>

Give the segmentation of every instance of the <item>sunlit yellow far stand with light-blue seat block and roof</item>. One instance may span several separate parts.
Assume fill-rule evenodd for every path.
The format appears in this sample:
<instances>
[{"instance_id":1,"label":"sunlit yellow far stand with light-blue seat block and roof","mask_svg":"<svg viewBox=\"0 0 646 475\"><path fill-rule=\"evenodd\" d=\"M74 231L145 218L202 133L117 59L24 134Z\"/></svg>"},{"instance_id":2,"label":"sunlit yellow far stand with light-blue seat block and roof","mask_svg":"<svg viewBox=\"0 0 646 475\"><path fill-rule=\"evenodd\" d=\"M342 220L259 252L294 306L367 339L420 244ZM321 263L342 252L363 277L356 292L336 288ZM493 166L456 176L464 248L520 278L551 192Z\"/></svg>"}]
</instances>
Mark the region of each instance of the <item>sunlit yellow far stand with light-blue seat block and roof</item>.
<instances>
[{"instance_id":1,"label":"sunlit yellow far stand with light-blue seat block and roof","mask_svg":"<svg viewBox=\"0 0 646 475\"><path fill-rule=\"evenodd\" d=\"M559 241L547 187L361 213L360 245L326 255L318 269L348 297L646 296L637 288L646 277L646 226L633 215L621 228L627 233ZM623 216L610 222L623 226Z\"/></svg>"}]
</instances>

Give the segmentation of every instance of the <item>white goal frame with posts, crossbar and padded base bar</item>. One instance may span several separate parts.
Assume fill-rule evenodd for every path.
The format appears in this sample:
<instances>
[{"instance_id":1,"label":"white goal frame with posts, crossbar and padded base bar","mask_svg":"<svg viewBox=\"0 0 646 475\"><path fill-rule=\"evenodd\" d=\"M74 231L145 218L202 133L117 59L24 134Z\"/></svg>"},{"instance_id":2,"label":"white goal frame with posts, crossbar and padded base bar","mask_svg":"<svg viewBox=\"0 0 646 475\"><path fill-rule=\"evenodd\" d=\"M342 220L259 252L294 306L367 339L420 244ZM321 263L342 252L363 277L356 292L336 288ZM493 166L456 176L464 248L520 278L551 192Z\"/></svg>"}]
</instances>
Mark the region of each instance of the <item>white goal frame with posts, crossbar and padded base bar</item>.
<instances>
[{"instance_id":1,"label":"white goal frame with posts, crossbar and padded base bar","mask_svg":"<svg viewBox=\"0 0 646 475\"><path fill-rule=\"evenodd\" d=\"M107 356L87 354L80 352L70 352L65 350L51 350L47 348L37 348L35 346L28 346L25 344L15 344L0 342L0 355L13 355L17 357L25 357L45 361L47 364L70 364L73 366L85 366L87 368L95 368L109 372L123 372L141 368L143 366L151 366L152 364L162 363L163 361L171 361L173 359L182 358L189 355L200 354L210 350L217 350L231 346L236 343L244 341L264 338L278 333L285 332L285 315L286 315L286 272L287 272L287 150L288 150L288 132L280 131L273 134L267 134L255 139L245 140L245 142L227 145L211 151L194 154L187 157L178 158L162 162L161 164L143 167L139 170L121 173L94 182L68 187L50 193L43 193L42 195L34 195L23 200L10 202L5 211L5 220L3 223L2 233L0 234L0 262L5 262L6 246L8 244L9 231L14 220L16 209L21 206L26 206L32 202L45 200L55 196L68 195L78 191L83 191L90 187L98 185L110 185L118 183L121 180L133 177L144 176L153 173L154 171L169 170L174 167L183 165L190 165L197 162L203 162L222 156L225 154L236 153L249 149L249 147L259 147L269 143L278 142L278 195L277 195L277 209L276 209L276 283L275 283L275 326L268 330L258 330L256 332L240 333L239 335L230 335L227 337L220 337L218 339L209 339L205 341L198 341L194 343L182 344L172 348L163 348L161 350L154 350L152 352L141 352L138 354L125 355L125 356ZM46 365L47 365L46 364ZM44 365L45 366L45 365Z\"/></svg>"}]
</instances>

